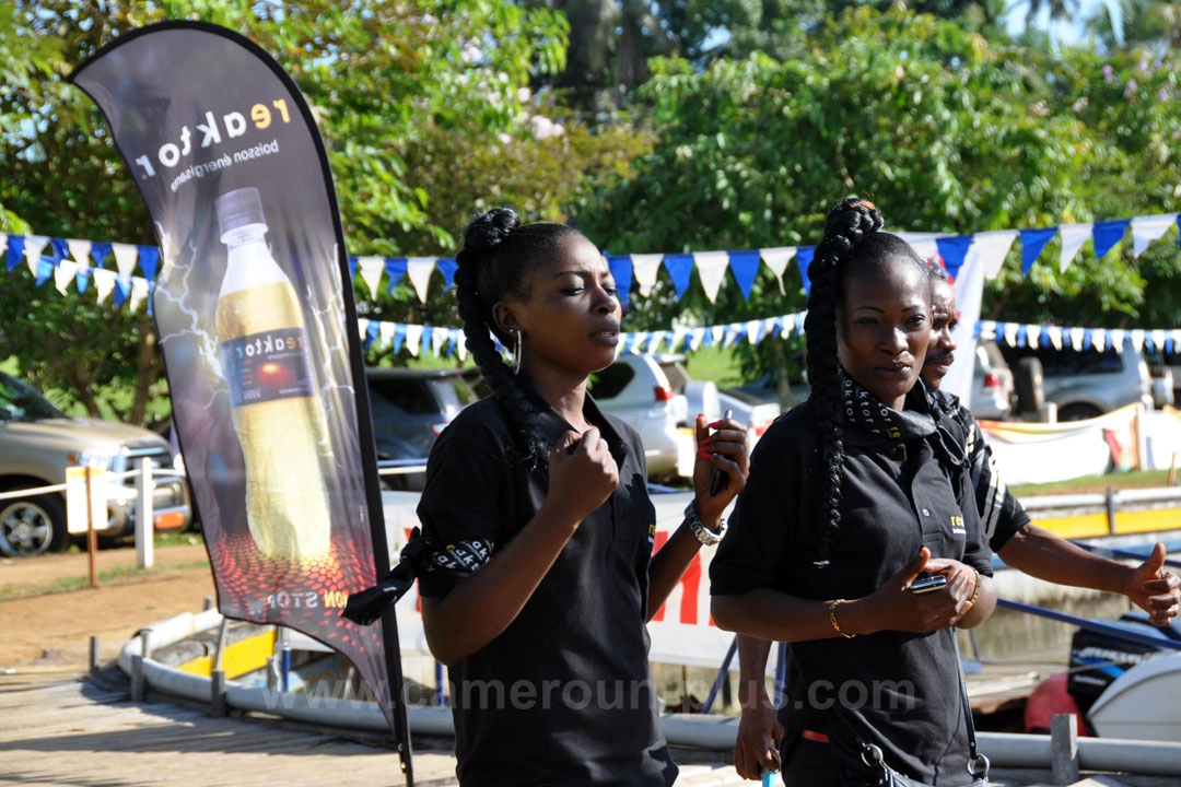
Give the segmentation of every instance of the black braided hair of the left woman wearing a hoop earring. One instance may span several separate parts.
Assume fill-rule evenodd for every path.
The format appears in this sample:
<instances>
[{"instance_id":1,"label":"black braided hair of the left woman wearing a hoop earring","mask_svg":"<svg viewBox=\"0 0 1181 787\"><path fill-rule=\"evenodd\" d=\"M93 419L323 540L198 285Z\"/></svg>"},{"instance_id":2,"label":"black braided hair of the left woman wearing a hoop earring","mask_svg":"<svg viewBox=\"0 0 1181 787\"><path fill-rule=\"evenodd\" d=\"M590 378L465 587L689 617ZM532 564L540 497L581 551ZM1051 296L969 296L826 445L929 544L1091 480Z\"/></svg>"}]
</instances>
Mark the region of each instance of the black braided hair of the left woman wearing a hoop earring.
<instances>
[{"instance_id":1,"label":"black braided hair of the left woman wearing a hoop earring","mask_svg":"<svg viewBox=\"0 0 1181 787\"><path fill-rule=\"evenodd\" d=\"M468 223L463 248L455 256L455 295L468 350L508 415L520 458L535 468L548 467L550 446L542 434L537 409L492 341L495 334L501 343L513 346L511 334L501 330L492 319L492 306L508 297L528 300L528 275L563 238L578 235L578 230L563 224L521 224L511 209L494 208Z\"/></svg>"}]
</instances>

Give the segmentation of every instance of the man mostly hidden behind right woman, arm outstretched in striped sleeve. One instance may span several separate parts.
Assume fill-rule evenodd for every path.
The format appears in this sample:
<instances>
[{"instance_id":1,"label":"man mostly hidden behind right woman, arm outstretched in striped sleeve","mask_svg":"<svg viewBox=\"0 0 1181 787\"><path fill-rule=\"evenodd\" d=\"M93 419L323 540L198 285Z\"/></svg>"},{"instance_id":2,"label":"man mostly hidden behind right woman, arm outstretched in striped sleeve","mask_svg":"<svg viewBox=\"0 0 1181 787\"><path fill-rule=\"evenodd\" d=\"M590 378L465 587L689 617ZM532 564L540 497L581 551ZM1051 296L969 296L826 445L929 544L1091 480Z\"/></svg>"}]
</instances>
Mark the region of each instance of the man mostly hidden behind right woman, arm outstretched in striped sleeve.
<instances>
[{"instance_id":1,"label":"man mostly hidden behind right woman, arm outstretched in striped sleeve","mask_svg":"<svg viewBox=\"0 0 1181 787\"><path fill-rule=\"evenodd\" d=\"M997 472L992 450L972 413L957 396L940 389L955 360L958 347L952 332L959 313L946 271L939 265L929 265L929 271L932 337L922 365L922 381L937 405L965 434L977 507L992 551L1007 565L1038 579L1122 593L1148 612L1154 625L1168 625L1177 615L1181 578L1164 570L1164 545L1156 544L1144 563L1131 566L1092 555L1032 524ZM735 769L744 779L758 779L762 770L774 768L774 753L783 734L764 677L770 648L765 640L738 637L742 717L735 742Z\"/></svg>"}]
</instances>

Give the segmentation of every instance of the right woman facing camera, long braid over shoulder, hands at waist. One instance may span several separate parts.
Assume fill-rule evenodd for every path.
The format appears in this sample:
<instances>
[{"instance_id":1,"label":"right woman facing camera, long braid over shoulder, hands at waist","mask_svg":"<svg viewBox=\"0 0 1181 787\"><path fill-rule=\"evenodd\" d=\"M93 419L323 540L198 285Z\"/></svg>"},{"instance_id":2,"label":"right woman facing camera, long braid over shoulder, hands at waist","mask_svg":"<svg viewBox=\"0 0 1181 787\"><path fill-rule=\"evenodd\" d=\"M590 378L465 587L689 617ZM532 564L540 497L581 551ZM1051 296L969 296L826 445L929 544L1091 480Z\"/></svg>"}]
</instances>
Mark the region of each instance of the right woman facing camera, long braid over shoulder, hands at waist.
<instances>
[{"instance_id":1,"label":"right woman facing camera, long braid over shoulder, hands at waist","mask_svg":"<svg viewBox=\"0 0 1181 787\"><path fill-rule=\"evenodd\" d=\"M866 201L829 214L808 269L811 393L759 440L711 563L717 624L766 641L764 656L789 643L787 785L880 783L877 762L929 785L973 779L952 627L991 615L992 555L963 441L919 379L926 265L881 227ZM929 577L946 584L915 592Z\"/></svg>"}]
</instances>

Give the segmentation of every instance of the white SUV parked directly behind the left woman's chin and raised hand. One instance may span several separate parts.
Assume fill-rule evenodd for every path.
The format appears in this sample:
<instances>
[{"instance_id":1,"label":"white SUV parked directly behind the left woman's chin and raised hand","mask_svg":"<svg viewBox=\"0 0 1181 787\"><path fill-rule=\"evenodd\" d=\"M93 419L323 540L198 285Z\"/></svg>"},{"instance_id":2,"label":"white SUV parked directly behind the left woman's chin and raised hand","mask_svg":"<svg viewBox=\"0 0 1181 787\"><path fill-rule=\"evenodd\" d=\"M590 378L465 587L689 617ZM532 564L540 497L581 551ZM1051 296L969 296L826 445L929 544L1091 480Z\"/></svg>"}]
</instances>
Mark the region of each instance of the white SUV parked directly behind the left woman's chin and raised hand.
<instances>
[{"instance_id":1,"label":"white SUV parked directly behind the left woman's chin and raised hand","mask_svg":"<svg viewBox=\"0 0 1181 787\"><path fill-rule=\"evenodd\" d=\"M691 464L693 437L679 428L689 421L689 400L676 393L654 358L620 355L590 376L590 393L605 412L618 415L640 433L650 479L680 476L683 455Z\"/></svg>"}]
</instances>

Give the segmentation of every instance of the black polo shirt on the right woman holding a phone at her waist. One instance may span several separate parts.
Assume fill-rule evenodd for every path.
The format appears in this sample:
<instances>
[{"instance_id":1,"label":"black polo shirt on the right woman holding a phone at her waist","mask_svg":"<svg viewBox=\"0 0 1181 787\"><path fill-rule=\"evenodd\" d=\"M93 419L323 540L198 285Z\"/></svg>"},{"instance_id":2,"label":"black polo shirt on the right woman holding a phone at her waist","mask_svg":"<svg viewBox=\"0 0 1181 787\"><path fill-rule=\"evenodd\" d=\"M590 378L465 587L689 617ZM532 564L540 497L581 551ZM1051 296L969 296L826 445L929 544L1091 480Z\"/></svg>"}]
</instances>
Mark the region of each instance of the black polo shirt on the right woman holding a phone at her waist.
<instances>
[{"instance_id":1,"label":"black polo shirt on the right woman holding a phone at her waist","mask_svg":"<svg viewBox=\"0 0 1181 787\"><path fill-rule=\"evenodd\" d=\"M912 394L920 408L926 406ZM924 400L925 401L925 400ZM976 512L968 473L941 460L946 429L890 440L846 422L841 527L827 566L811 562L801 527L811 527L808 491L816 450L805 402L777 420L751 455L746 487L710 568L711 592L772 588L801 598L861 598L922 546L991 576L992 555ZM963 451L963 446L960 446ZM953 631L879 631L791 643L781 721L789 735L821 727L850 772L857 741L876 743L887 763L938 785L965 785L967 734Z\"/></svg>"}]
</instances>

